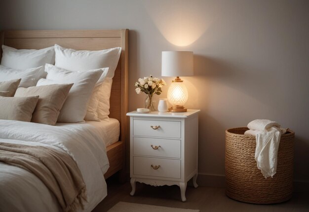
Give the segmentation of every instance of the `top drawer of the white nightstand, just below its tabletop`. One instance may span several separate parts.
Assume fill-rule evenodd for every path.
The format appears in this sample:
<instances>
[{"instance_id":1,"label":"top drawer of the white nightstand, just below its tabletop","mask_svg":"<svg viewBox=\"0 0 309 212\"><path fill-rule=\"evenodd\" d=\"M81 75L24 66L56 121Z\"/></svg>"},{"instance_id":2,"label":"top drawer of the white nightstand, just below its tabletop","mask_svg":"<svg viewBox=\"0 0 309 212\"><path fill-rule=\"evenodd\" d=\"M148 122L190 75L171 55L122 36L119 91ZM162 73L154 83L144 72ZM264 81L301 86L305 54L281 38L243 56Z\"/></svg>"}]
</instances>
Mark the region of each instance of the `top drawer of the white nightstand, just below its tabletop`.
<instances>
[{"instance_id":1,"label":"top drawer of the white nightstand, just below its tabletop","mask_svg":"<svg viewBox=\"0 0 309 212\"><path fill-rule=\"evenodd\" d=\"M134 136L181 138L180 121L133 120Z\"/></svg>"}]
</instances>

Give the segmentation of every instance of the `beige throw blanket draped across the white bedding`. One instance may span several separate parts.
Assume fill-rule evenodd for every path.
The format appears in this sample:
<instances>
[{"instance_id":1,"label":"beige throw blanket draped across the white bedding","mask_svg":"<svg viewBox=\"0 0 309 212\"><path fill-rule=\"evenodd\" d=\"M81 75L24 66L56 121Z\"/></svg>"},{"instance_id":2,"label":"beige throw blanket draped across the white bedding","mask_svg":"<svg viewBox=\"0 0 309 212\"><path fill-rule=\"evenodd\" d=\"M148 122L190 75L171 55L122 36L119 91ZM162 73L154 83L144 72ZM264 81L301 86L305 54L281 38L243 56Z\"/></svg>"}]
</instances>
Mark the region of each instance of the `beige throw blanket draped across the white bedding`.
<instances>
[{"instance_id":1,"label":"beige throw blanket draped across the white bedding","mask_svg":"<svg viewBox=\"0 0 309 212\"><path fill-rule=\"evenodd\" d=\"M73 158L46 146L0 142L0 161L33 173L56 196L64 212L83 209L86 186Z\"/></svg>"}]
</instances>

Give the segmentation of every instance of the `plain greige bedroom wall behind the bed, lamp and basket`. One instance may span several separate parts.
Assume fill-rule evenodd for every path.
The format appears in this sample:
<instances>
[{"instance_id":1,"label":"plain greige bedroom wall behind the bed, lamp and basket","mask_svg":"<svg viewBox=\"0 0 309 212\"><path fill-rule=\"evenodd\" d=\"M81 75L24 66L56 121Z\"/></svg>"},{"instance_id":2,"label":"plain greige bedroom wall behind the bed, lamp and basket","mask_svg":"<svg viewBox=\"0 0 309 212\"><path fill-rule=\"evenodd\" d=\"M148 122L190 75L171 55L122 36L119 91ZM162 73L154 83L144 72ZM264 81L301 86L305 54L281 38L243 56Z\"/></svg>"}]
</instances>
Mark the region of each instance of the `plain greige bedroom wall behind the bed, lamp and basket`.
<instances>
[{"instance_id":1,"label":"plain greige bedroom wall behind the bed, lamp and basket","mask_svg":"<svg viewBox=\"0 0 309 212\"><path fill-rule=\"evenodd\" d=\"M145 98L135 80L160 76L161 51L193 51L194 76L183 78L187 107L201 109L199 173L224 175L225 129L267 118L296 132L295 180L309 181L308 0L1 3L0 29L130 29L130 110Z\"/></svg>"}]
</instances>

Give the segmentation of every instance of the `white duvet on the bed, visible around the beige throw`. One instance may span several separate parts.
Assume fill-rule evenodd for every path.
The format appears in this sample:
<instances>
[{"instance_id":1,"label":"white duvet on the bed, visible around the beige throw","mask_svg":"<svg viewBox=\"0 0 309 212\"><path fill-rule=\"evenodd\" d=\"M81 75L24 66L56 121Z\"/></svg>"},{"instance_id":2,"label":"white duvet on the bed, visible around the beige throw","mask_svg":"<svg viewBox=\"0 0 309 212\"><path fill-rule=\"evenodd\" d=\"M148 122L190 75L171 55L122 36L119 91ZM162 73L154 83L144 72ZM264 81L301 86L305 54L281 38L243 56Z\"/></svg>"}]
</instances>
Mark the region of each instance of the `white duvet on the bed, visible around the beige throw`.
<instances>
[{"instance_id":1,"label":"white duvet on the bed, visible around the beige throw","mask_svg":"<svg viewBox=\"0 0 309 212\"><path fill-rule=\"evenodd\" d=\"M87 123L50 126L31 122L0 120L0 142L49 145L70 154L81 171L91 211L106 195L104 173L109 168L100 132ZM32 173L0 162L0 211L58 212L56 198Z\"/></svg>"}]
</instances>

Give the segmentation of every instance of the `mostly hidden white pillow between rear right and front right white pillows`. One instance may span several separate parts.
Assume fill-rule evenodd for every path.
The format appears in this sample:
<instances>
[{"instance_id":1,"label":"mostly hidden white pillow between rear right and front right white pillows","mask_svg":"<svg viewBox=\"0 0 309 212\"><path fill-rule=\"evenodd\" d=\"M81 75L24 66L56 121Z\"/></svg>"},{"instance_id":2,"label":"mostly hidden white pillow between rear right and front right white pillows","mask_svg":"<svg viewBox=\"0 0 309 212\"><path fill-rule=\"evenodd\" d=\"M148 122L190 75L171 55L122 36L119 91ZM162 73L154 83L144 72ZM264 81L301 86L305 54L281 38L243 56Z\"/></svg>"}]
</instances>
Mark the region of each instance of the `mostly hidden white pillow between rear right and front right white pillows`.
<instances>
[{"instance_id":1,"label":"mostly hidden white pillow between rear right and front right white pillows","mask_svg":"<svg viewBox=\"0 0 309 212\"><path fill-rule=\"evenodd\" d=\"M68 71L68 70L65 70L65 69L55 67L51 64L46 64L45 70L50 70L50 69ZM98 104L99 104L99 89L101 88L101 85L104 82L106 75L108 74L109 68L96 69L96 70L92 70L92 71L97 71L97 70L102 70L103 73L100 76L99 80L96 82L95 87L93 89L93 92L91 94L90 101L89 101L89 104L88 104L88 107L87 107L87 113L84 117L84 120L87 120L87 121L100 121L100 119L98 118L98 113L96 111ZM72 71L72 72L74 72L74 71ZM84 72L84 71L77 71L77 72Z\"/></svg>"}]
</instances>

